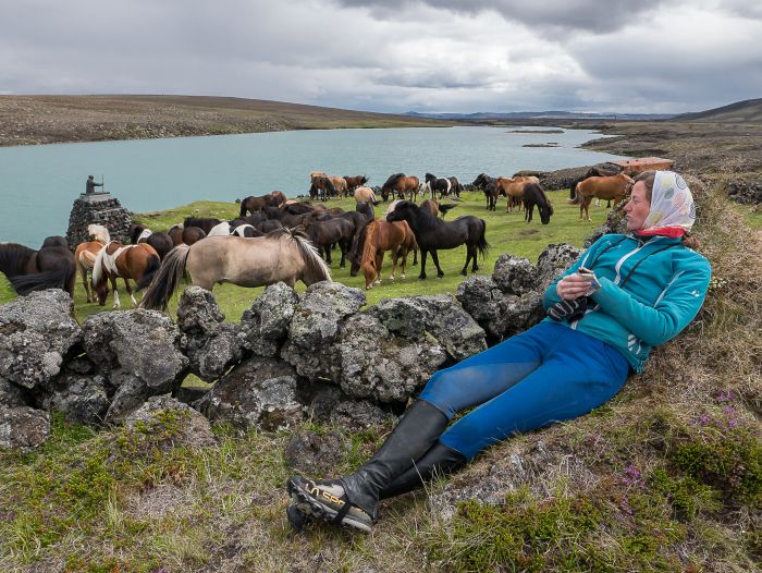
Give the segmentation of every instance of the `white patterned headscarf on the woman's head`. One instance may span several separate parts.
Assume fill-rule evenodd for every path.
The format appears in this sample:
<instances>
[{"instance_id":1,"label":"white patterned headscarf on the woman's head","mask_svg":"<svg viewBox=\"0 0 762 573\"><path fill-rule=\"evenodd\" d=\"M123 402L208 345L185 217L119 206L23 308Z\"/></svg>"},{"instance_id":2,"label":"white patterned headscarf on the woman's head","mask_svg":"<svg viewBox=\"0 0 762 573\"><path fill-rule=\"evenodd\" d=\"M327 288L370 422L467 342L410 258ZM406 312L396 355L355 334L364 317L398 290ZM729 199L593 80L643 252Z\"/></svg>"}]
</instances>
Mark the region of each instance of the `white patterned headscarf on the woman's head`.
<instances>
[{"instance_id":1,"label":"white patterned headscarf on the woman's head","mask_svg":"<svg viewBox=\"0 0 762 573\"><path fill-rule=\"evenodd\" d=\"M651 209L643 231L678 227L690 231L696 222L693 195L685 180L674 171L656 171L651 191Z\"/></svg>"}]
</instances>

